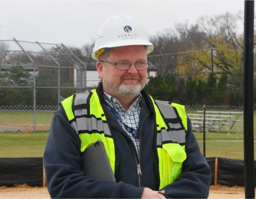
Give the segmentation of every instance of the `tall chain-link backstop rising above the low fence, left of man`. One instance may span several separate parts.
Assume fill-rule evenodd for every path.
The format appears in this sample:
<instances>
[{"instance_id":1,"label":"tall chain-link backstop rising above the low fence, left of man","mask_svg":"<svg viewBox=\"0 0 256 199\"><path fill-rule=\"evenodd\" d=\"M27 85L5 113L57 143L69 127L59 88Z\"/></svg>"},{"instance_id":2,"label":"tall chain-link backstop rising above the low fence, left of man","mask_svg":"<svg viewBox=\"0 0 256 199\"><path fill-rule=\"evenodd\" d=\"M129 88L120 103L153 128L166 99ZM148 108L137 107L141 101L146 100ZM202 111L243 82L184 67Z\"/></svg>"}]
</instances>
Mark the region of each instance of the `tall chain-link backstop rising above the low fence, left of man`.
<instances>
[{"instance_id":1,"label":"tall chain-link backstop rising above the low fence, left of man","mask_svg":"<svg viewBox=\"0 0 256 199\"><path fill-rule=\"evenodd\" d=\"M86 90L86 67L64 44L0 40L0 104L58 104Z\"/></svg>"}]
</instances>

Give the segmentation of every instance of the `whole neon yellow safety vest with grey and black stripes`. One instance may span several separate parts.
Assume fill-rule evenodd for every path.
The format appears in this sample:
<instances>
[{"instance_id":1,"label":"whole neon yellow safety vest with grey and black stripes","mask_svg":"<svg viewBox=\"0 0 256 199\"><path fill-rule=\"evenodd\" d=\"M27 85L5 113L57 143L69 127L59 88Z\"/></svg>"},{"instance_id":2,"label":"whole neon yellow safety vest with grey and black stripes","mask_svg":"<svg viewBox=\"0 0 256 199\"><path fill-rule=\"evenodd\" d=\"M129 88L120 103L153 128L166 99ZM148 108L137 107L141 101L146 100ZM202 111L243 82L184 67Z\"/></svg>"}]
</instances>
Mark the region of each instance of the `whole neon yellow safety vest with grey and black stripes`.
<instances>
[{"instance_id":1,"label":"whole neon yellow safety vest with grey and black stripes","mask_svg":"<svg viewBox=\"0 0 256 199\"><path fill-rule=\"evenodd\" d=\"M184 106L154 101L157 122L157 155L159 163L159 190L174 182L181 174L185 152L187 114ZM91 93L77 93L61 101L70 125L78 133L81 152L97 140L102 140L115 173L115 146L105 113L96 90ZM178 113L178 114L177 114Z\"/></svg>"}]
</instances>

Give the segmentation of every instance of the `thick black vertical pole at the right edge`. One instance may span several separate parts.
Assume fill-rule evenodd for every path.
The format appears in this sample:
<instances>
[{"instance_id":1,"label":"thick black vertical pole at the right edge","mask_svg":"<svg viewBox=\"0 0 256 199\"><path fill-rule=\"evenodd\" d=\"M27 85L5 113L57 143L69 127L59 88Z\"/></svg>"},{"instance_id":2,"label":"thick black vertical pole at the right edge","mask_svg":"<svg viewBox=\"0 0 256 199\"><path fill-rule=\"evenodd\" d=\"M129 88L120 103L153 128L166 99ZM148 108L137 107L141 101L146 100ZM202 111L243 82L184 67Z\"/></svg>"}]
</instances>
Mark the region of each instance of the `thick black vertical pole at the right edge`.
<instances>
[{"instance_id":1,"label":"thick black vertical pole at the right edge","mask_svg":"<svg viewBox=\"0 0 256 199\"><path fill-rule=\"evenodd\" d=\"M253 58L255 1L244 1L244 191L255 198Z\"/></svg>"}]
</instances>

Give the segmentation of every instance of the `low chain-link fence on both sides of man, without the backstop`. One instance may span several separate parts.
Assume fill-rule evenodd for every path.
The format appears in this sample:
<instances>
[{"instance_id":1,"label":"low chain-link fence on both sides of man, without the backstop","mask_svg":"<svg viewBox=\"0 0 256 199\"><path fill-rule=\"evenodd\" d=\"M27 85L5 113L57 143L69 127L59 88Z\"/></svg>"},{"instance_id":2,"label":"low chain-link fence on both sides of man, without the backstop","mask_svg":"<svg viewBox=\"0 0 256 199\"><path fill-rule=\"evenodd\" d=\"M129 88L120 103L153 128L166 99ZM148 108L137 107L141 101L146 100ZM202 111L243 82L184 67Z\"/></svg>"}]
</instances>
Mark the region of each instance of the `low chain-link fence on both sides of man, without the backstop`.
<instances>
[{"instance_id":1,"label":"low chain-link fence on both sides of man, without the backstop","mask_svg":"<svg viewBox=\"0 0 256 199\"><path fill-rule=\"evenodd\" d=\"M0 157L42 157L57 108L37 106L34 112L32 106L0 106ZM206 157L244 159L243 107L186 106L186 109Z\"/></svg>"}]
</instances>

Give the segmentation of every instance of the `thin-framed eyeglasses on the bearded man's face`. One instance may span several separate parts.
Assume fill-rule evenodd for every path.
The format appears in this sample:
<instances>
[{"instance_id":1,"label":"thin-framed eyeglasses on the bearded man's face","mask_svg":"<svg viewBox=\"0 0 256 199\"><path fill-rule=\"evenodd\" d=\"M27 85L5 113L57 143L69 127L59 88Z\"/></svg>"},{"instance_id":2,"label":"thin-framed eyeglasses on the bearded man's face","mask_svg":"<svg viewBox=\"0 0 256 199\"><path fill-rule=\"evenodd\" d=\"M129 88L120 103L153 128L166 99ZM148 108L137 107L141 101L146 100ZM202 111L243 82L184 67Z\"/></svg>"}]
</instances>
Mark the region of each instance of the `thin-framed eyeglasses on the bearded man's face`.
<instances>
[{"instance_id":1,"label":"thin-framed eyeglasses on the bearded man's face","mask_svg":"<svg viewBox=\"0 0 256 199\"><path fill-rule=\"evenodd\" d=\"M149 66L149 63L146 62L146 61L138 61L138 62L135 62L135 63L130 63L130 62L127 62L127 61L118 61L118 62L115 63L115 62L111 62L111 61L100 60L100 62L110 63L112 65L116 65L116 69L119 69L119 70L122 70L122 71L127 71L129 69L129 67L132 66L132 64L135 65L135 68L138 71L146 70L146 69L148 69L148 66Z\"/></svg>"}]
</instances>

